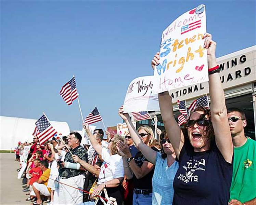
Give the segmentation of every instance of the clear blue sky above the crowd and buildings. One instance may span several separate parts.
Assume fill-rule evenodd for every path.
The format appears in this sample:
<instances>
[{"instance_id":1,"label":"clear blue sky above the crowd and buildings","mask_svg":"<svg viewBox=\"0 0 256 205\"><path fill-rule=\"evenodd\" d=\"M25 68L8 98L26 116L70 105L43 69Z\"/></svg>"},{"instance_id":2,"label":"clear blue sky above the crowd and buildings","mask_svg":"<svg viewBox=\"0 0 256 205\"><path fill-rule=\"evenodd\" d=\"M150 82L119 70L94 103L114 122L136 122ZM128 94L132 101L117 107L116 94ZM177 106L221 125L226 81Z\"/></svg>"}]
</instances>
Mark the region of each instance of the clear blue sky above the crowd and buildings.
<instances>
[{"instance_id":1,"label":"clear blue sky above the crowd and buildings","mask_svg":"<svg viewBox=\"0 0 256 205\"><path fill-rule=\"evenodd\" d=\"M201 3L217 57L256 44L255 1L1 1L0 114L81 129L77 100L59 95L75 75L84 118L97 105L115 126L130 81L153 74L162 31Z\"/></svg>"}]
</instances>

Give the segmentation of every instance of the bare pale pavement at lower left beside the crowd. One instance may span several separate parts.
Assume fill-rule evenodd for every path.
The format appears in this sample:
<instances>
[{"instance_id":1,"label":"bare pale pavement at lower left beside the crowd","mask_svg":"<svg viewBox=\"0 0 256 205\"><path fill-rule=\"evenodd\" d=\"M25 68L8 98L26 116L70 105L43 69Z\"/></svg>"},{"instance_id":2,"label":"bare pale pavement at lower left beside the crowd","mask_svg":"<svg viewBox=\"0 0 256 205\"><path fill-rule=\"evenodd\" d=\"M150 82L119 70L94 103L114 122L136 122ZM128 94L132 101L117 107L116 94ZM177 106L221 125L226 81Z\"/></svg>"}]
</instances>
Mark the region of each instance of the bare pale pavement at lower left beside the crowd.
<instances>
[{"instance_id":1,"label":"bare pale pavement at lower left beside the crowd","mask_svg":"<svg viewBox=\"0 0 256 205\"><path fill-rule=\"evenodd\" d=\"M0 204L29 205L31 202L25 201L27 192L22 191L22 179L17 179L20 163L14 160L14 153L0 153Z\"/></svg>"}]
</instances>

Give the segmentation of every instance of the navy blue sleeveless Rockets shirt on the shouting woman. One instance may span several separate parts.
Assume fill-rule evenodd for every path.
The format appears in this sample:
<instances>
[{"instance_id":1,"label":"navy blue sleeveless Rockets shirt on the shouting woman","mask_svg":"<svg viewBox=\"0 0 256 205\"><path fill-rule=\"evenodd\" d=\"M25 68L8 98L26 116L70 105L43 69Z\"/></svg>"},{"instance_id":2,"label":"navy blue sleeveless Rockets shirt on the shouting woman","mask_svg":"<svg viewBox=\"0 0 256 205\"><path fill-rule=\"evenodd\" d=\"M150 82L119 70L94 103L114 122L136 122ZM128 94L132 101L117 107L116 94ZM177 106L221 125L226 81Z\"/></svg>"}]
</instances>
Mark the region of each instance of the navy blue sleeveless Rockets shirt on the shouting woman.
<instances>
[{"instance_id":1,"label":"navy blue sleeveless Rockets shirt on the shouting woman","mask_svg":"<svg viewBox=\"0 0 256 205\"><path fill-rule=\"evenodd\" d=\"M210 150L194 152L185 140L178 162L172 204L228 204L233 164L223 158L215 141Z\"/></svg>"}]
</instances>

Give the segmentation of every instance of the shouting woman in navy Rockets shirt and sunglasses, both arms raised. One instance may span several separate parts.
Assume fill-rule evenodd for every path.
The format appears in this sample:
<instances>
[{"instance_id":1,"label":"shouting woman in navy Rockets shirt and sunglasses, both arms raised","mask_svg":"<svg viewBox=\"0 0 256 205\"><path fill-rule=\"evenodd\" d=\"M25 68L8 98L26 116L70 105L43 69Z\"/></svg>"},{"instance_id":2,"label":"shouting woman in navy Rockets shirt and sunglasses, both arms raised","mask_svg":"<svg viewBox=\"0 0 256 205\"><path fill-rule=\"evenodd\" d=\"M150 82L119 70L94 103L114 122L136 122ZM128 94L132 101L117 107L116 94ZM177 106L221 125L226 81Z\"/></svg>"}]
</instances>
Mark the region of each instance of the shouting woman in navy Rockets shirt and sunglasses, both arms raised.
<instances>
[{"instance_id":1,"label":"shouting woman in navy Rockets shirt and sunglasses, both arms raised","mask_svg":"<svg viewBox=\"0 0 256 205\"><path fill-rule=\"evenodd\" d=\"M173 204L228 204L232 179L233 145L225 96L216 63L216 43L203 36L207 49L210 110L198 107L187 121L187 132L176 122L169 93L158 94L167 135L174 147L179 169L174 179ZM152 67L158 65L157 53Z\"/></svg>"}]
</instances>

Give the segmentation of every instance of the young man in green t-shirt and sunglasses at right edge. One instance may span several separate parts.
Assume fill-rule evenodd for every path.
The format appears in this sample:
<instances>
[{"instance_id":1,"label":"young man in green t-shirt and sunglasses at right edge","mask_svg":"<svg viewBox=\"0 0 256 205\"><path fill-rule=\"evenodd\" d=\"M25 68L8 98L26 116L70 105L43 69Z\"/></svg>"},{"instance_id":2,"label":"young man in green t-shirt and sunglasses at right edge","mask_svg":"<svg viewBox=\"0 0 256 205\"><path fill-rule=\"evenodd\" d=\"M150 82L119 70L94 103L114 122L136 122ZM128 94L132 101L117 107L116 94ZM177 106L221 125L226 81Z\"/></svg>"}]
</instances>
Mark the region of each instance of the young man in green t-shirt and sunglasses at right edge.
<instances>
[{"instance_id":1,"label":"young man in green t-shirt and sunglasses at right edge","mask_svg":"<svg viewBox=\"0 0 256 205\"><path fill-rule=\"evenodd\" d=\"M256 141L244 135L245 114L228 109L229 127L234 146L233 176L229 205L256 204Z\"/></svg>"}]
</instances>

